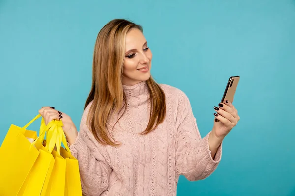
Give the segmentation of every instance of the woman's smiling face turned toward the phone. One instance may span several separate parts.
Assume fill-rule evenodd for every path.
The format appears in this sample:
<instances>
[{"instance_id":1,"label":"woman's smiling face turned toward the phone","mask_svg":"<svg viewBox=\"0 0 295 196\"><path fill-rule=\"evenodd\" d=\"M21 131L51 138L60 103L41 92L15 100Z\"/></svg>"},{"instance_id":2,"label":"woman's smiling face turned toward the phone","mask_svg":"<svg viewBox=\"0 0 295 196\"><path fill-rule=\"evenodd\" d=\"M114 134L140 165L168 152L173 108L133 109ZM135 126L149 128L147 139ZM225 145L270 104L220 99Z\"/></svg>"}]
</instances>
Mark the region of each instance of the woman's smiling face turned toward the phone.
<instances>
[{"instance_id":1,"label":"woman's smiling face turned toward the phone","mask_svg":"<svg viewBox=\"0 0 295 196\"><path fill-rule=\"evenodd\" d=\"M123 85L132 86L150 78L152 53L143 33L131 29L126 35Z\"/></svg>"}]
</instances>

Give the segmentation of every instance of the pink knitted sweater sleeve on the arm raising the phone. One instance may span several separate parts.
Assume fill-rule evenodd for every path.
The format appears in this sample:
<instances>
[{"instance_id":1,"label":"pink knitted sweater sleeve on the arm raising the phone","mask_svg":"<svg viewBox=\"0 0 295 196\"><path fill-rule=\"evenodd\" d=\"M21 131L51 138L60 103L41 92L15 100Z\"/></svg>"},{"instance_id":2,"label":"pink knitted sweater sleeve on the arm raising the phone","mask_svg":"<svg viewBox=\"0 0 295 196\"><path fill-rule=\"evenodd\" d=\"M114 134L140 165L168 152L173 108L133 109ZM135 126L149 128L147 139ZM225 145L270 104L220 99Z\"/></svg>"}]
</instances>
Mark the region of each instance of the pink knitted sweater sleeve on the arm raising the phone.
<instances>
[{"instance_id":1,"label":"pink knitted sweater sleeve on the arm raising the phone","mask_svg":"<svg viewBox=\"0 0 295 196\"><path fill-rule=\"evenodd\" d=\"M212 159L208 140L211 132L201 138L189 99L183 92L179 96L176 131L177 174L184 175L189 181L207 178L220 162L222 144Z\"/></svg>"}]
</instances>

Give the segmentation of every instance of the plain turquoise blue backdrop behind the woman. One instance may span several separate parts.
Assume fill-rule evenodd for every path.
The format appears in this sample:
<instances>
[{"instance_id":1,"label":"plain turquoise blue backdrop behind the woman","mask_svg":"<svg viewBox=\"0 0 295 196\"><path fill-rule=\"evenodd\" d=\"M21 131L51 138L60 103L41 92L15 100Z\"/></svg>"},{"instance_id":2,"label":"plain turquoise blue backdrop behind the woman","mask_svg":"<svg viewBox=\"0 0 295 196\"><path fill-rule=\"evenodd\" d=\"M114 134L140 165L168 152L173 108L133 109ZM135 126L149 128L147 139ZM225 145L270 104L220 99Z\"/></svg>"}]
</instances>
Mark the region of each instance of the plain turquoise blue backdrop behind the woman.
<instances>
[{"instance_id":1,"label":"plain turquoise blue backdrop behind the woman","mask_svg":"<svg viewBox=\"0 0 295 196\"><path fill-rule=\"evenodd\" d=\"M0 0L0 143L42 106L79 126L95 39L114 18L144 27L154 78L188 95L202 137L229 76L241 77L219 167L180 177L177 196L295 195L295 0Z\"/></svg>"}]
</instances>

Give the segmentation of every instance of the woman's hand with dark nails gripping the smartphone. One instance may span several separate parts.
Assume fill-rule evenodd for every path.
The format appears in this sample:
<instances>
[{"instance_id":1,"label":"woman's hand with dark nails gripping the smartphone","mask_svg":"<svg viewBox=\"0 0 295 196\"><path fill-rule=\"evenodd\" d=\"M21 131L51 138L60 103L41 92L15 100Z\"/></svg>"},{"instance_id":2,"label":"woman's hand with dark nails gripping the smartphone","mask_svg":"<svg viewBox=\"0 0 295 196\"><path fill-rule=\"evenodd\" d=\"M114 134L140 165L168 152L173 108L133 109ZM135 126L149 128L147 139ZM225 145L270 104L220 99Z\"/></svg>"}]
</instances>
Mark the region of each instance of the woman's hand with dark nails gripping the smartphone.
<instances>
[{"instance_id":1,"label":"woman's hand with dark nails gripping the smartphone","mask_svg":"<svg viewBox=\"0 0 295 196\"><path fill-rule=\"evenodd\" d=\"M219 122L214 120L212 133L217 138L223 139L236 126L240 117L237 114L236 108L229 101L225 100L224 103L219 103L218 106L214 107L216 111L214 115Z\"/></svg>"}]
</instances>

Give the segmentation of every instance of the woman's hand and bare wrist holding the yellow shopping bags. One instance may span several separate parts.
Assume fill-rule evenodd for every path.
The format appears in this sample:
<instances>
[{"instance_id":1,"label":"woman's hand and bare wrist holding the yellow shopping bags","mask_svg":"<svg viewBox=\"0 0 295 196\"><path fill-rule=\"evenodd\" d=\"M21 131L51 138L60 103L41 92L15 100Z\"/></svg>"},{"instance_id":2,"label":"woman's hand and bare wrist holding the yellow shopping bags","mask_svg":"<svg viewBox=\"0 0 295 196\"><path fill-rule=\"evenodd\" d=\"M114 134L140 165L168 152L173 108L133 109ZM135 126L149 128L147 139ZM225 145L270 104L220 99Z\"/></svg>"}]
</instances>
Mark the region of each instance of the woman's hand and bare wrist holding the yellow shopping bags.
<instances>
[{"instance_id":1,"label":"woman's hand and bare wrist holding the yellow shopping bags","mask_svg":"<svg viewBox=\"0 0 295 196\"><path fill-rule=\"evenodd\" d=\"M54 107L42 107L39 110L39 114L44 118L46 125L54 119L58 121L62 119L62 129L68 143L71 145L76 141L78 131L70 116L63 112L55 110Z\"/></svg>"}]
</instances>

